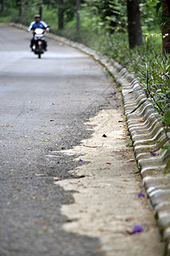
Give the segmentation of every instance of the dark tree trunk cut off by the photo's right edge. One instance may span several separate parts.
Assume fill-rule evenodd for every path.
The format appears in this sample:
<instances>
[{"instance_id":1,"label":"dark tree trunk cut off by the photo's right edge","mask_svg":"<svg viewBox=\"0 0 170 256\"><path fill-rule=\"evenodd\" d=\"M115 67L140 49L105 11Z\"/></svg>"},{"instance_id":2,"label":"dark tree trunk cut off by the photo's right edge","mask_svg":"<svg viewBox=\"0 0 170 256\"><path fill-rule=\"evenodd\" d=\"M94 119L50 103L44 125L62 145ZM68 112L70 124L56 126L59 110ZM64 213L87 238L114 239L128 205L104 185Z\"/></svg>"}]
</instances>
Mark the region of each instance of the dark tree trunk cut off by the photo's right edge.
<instances>
[{"instance_id":1,"label":"dark tree trunk cut off by the photo's right edge","mask_svg":"<svg viewBox=\"0 0 170 256\"><path fill-rule=\"evenodd\" d=\"M162 50L163 54L166 55L166 53L170 53L170 2L169 0L162 0L161 1L162 5L162 36L166 35L167 36L164 38L162 37ZM167 20L168 19L168 20Z\"/></svg>"}]
</instances>

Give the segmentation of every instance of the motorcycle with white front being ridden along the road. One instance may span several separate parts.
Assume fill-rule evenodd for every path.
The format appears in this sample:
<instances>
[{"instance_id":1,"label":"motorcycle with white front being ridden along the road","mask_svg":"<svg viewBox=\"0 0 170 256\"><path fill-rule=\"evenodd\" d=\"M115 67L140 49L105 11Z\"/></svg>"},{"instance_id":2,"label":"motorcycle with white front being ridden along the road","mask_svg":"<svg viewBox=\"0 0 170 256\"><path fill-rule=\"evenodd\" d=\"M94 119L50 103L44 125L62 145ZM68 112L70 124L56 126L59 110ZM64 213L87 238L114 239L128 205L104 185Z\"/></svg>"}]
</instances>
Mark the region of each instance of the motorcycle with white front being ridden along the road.
<instances>
[{"instance_id":1,"label":"motorcycle with white front being ridden along the road","mask_svg":"<svg viewBox=\"0 0 170 256\"><path fill-rule=\"evenodd\" d=\"M42 28L37 28L34 31L34 46L33 51L38 56L38 58L41 58L41 55L46 50L46 42L45 42L45 36L44 36L45 30Z\"/></svg>"}]
</instances>

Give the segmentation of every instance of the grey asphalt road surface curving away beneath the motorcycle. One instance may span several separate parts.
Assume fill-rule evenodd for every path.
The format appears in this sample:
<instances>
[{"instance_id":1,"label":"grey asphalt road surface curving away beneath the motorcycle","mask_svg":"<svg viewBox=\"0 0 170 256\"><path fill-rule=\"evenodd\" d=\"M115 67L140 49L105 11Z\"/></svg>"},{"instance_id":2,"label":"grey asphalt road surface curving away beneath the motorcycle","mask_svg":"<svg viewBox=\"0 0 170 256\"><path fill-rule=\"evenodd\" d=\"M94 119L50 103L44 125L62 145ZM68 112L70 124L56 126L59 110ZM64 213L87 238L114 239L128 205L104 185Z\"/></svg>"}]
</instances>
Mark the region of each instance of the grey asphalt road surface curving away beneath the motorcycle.
<instances>
[{"instance_id":1,"label":"grey asphalt road surface curving away beneath the motorcycle","mask_svg":"<svg viewBox=\"0 0 170 256\"><path fill-rule=\"evenodd\" d=\"M115 89L88 55L48 40L37 59L30 38L0 24L0 255L104 255L97 238L62 229L60 207L74 198L54 180L82 164L59 152L91 135L84 121L99 109L116 108Z\"/></svg>"}]
</instances>

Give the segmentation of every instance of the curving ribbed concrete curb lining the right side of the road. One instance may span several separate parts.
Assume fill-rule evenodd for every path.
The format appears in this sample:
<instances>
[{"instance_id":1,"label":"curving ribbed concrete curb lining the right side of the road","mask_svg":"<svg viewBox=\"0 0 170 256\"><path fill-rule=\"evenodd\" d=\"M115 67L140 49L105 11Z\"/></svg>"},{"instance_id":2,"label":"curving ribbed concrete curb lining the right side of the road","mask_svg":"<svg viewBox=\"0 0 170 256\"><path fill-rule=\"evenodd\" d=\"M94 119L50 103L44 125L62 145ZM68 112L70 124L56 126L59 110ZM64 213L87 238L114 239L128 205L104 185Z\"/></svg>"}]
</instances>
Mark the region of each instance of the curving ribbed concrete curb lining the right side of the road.
<instances>
[{"instance_id":1,"label":"curving ribbed concrete curb lining the right side of the road","mask_svg":"<svg viewBox=\"0 0 170 256\"><path fill-rule=\"evenodd\" d=\"M23 30L27 26L10 23ZM161 115L145 95L144 89L139 85L133 74L127 72L118 62L90 49L83 44L48 33L47 38L54 39L62 44L77 48L99 61L122 86L122 99L124 102L127 127L133 140L133 150L140 168L140 175L154 216L165 242L166 255L170 256L170 175L165 174L167 160L166 149L163 145L170 145L167 141L165 129L161 122Z\"/></svg>"}]
</instances>

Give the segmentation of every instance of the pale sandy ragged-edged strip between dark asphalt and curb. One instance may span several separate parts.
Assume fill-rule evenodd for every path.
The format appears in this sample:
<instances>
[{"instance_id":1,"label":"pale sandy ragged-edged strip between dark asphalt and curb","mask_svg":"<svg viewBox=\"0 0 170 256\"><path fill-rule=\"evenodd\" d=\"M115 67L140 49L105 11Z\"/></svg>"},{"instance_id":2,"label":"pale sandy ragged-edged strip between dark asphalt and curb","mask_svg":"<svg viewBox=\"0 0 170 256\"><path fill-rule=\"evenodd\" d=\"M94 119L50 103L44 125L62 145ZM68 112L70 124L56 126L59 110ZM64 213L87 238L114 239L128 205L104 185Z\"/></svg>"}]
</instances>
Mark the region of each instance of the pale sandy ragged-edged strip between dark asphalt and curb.
<instances>
[{"instance_id":1,"label":"pale sandy ragged-edged strip between dark asphalt and curb","mask_svg":"<svg viewBox=\"0 0 170 256\"><path fill-rule=\"evenodd\" d=\"M120 110L101 110L88 125L93 136L63 154L80 154L77 169L70 171L80 179L59 184L75 190L75 203L62 207L69 218L66 231L99 237L106 256L161 255L163 245L155 219L143 193L132 148L126 147L126 123ZM132 235L139 224L143 232Z\"/></svg>"}]
</instances>

